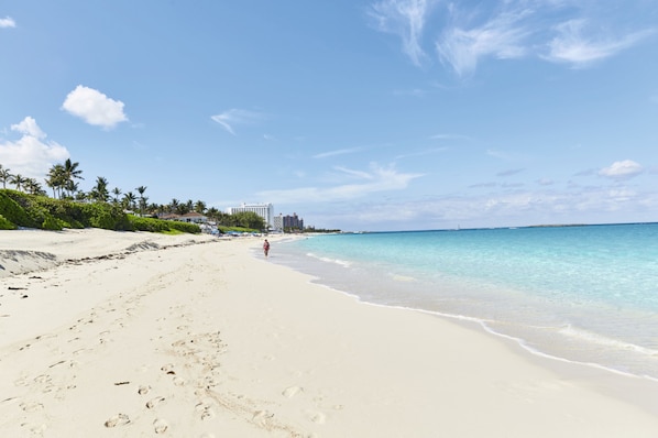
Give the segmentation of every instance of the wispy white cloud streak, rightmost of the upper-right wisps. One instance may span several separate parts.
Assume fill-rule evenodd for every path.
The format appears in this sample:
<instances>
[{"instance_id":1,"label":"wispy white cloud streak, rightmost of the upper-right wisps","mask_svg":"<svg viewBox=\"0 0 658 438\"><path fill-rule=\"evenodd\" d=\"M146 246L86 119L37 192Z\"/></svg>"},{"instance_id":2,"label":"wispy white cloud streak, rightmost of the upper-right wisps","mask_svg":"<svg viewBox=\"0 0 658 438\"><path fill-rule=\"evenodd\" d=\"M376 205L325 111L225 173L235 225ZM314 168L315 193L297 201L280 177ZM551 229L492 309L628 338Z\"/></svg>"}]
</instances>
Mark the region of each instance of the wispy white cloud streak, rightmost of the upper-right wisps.
<instances>
[{"instance_id":1,"label":"wispy white cloud streak, rightmost of the upper-right wisps","mask_svg":"<svg viewBox=\"0 0 658 438\"><path fill-rule=\"evenodd\" d=\"M559 24L556 36L548 44L548 61L564 62L583 67L593 62L616 55L649 36L652 31L638 31L621 37L586 34L585 20L570 20Z\"/></svg>"}]
</instances>

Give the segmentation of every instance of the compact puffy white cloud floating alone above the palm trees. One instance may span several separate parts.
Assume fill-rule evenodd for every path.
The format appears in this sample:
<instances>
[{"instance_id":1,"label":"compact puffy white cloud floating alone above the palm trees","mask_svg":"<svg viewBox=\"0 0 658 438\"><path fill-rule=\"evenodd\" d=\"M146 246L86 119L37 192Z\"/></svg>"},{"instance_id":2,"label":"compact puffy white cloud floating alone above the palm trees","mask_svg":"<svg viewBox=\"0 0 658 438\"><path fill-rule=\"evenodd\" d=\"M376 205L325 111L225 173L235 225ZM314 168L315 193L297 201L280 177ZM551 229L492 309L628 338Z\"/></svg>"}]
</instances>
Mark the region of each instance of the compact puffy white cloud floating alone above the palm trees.
<instances>
[{"instance_id":1,"label":"compact puffy white cloud floating alone above the palm trees","mask_svg":"<svg viewBox=\"0 0 658 438\"><path fill-rule=\"evenodd\" d=\"M94 88L78 85L66 96L62 109L89 124L110 129L128 121L123 106L120 100L110 99Z\"/></svg>"}]
</instances>

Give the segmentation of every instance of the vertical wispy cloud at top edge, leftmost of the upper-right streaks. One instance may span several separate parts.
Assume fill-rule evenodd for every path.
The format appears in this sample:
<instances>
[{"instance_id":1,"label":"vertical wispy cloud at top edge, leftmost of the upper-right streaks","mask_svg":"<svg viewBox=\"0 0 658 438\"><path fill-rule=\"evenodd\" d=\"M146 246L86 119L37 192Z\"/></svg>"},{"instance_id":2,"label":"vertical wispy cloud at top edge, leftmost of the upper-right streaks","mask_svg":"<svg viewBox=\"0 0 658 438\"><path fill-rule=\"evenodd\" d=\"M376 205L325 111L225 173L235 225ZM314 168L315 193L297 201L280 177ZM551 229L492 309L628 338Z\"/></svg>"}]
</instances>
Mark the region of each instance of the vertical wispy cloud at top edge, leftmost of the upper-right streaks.
<instances>
[{"instance_id":1,"label":"vertical wispy cloud at top edge, leftmost of the upper-right streaks","mask_svg":"<svg viewBox=\"0 0 658 438\"><path fill-rule=\"evenodd\" d=\"M420 39L434 3L435 0L384 0L372 6L370 15L380 31L399 35L404 53L420 65L426 56Z\"/></svg>"}]
</instances>

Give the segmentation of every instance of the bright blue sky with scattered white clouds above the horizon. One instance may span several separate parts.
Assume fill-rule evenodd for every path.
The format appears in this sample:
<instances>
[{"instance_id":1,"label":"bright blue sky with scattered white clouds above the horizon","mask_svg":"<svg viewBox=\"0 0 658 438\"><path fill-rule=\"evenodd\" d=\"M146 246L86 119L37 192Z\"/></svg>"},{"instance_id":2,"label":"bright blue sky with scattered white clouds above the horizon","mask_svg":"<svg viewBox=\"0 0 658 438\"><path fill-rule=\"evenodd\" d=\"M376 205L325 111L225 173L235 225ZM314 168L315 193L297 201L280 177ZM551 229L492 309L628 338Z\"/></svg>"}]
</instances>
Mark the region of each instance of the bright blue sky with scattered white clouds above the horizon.
<instances>
[{"instance_id":1,"label":"bright blue sky with scattered white clouds above the horizon","mask_svg":"<svg viewBox=\"0 0 658 438\"><path fill-rule=\"evenodd\" d=\"M8 0L0 58L0 164L39 180L342 230L658 221L654 0Z\"/></svg>"}]
</instances>

